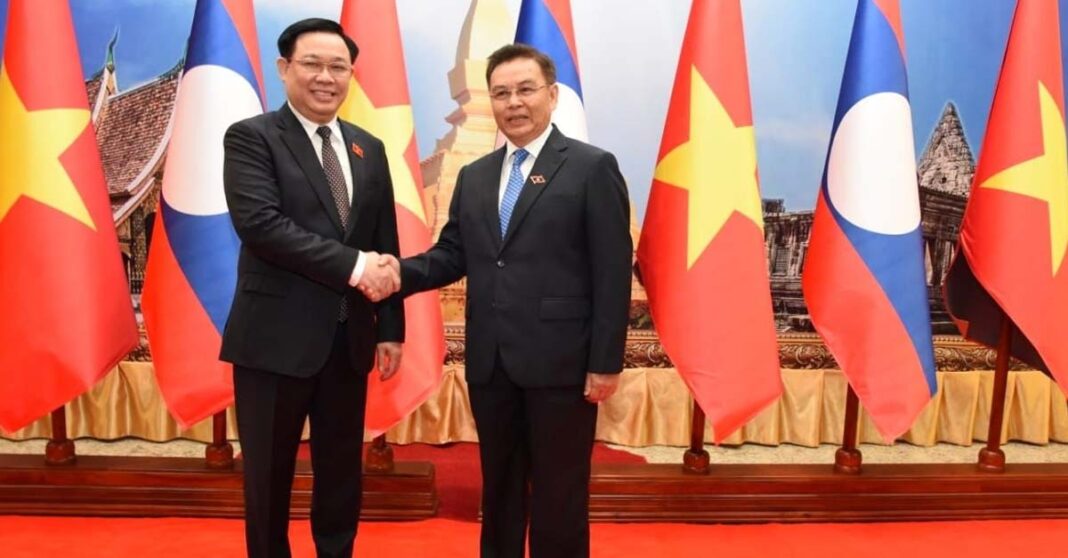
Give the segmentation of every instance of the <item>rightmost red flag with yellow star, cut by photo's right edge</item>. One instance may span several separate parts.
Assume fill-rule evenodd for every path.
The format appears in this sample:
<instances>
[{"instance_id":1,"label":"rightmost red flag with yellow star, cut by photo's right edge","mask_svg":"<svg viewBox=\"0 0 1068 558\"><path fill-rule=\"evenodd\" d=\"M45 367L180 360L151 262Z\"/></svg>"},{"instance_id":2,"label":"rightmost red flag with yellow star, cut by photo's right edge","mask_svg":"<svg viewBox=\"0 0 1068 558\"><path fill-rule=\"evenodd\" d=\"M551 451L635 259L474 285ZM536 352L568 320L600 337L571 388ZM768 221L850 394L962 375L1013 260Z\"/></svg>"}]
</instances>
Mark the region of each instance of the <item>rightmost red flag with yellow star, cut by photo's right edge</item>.
<instances>
[{"instance_id":1,"label":"rightmost red flag with yellow star, cut by photo's right edge","mask_svg":"<svg viewBox=\"0 0 1068 558\"><path fill-rule=\"evenodd\" d=\"M946 306L964 337L995 345L1068 392L1068 152L1057 0L1017 4Z\"/></svg>"}]
</instances>

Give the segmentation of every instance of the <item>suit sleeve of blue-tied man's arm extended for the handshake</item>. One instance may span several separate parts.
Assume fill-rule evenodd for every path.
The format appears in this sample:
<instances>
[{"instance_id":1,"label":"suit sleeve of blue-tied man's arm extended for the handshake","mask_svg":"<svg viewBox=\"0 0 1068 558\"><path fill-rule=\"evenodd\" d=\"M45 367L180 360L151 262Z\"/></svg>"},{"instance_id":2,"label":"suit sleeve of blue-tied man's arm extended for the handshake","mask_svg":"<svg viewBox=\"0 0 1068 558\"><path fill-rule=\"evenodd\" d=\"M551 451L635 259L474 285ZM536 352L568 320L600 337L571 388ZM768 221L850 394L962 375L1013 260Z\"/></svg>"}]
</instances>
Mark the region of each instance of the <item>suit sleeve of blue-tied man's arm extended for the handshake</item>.
<instances>
[{"instance_id":1,"label":"suit sleeve of blue-tied man's arm extended for the handshake","mask_svg":"<svg viewBox=\"0 0 1068 558\"><path fill-rule=\"evenodd\" d=\"M456 176L456 189L449 205L449 221L438 242L429 250L400 262L400 293L404 296L440 289L467 275L464 239L460 236L460 200L464 198L464 171Z\"/></svg>"}]
</instances>

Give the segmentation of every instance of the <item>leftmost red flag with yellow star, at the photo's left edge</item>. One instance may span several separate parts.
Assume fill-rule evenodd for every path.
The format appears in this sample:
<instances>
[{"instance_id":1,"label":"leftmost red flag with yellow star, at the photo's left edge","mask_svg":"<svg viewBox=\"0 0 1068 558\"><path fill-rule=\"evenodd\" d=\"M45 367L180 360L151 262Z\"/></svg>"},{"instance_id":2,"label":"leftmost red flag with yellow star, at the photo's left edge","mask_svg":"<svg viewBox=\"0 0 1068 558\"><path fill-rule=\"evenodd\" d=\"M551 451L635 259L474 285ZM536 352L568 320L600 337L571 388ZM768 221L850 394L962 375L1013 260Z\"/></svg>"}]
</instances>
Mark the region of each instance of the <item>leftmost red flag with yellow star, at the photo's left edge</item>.
<instances>
[{"instance_id":1,"label":"leftmost red flag with yellow star, at the photo's left edge","mask_svg":"<svg viewBox=\"0 0 1068 558\"><path fill-rule=\"evenodd\" d=\"M0 64L0 429L138 341L66 2L12 0Z\"/></svg>"}]
</instances>

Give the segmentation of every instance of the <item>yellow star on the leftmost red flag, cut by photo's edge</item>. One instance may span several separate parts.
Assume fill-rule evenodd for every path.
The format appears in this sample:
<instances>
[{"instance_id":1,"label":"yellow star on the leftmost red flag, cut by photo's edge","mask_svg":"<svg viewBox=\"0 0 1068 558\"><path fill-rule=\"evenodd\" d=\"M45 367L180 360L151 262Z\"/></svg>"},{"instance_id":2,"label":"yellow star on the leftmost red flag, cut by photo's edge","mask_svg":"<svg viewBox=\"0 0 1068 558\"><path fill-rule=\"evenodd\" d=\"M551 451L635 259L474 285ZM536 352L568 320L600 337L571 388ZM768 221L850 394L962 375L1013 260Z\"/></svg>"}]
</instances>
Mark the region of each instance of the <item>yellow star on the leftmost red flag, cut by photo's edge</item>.
<instances>
[{"instance_id":1,"label":"yellow star on the leftmost red flag, cut by photo's edge","mask_svg":"<svg viewBox=\"0 0 1068 558\"><path fill-rule=\"evenodd\" d=\"M28 111L6 68L0 68L0 221L25 196L96 230L60 162L87 125L85 109Z\"/></svg>"}]
</instances>

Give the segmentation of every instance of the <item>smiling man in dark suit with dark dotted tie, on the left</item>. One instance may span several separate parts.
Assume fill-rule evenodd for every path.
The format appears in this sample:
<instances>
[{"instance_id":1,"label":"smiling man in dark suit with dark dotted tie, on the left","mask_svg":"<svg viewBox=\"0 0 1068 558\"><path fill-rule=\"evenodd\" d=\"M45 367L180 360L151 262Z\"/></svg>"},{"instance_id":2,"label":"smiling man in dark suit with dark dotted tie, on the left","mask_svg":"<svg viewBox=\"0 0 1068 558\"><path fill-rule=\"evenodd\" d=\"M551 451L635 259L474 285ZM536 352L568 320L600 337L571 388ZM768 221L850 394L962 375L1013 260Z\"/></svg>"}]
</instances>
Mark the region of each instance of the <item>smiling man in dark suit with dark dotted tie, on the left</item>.
<instances>
[{"instance_id":1,"label":"smiling man in dark suit with dark dotted tie, on the left","mask_svg":"<svg viewBox=\"0 0 1068 558\"><path fill-rule=\"evenodd\" d=\"M376 352L382 376L395 373L404 340L403 301L378 301L398 282L378 263L398 249L393 187L382 143L336 115L356 43L334 21L305 19L278 46L287 103L234 124L224 141L241 252L221 358L234 363L246 541L249 556L289 556L307 417L316 552L351 556L367 373Z\"/></svg>"}]
</instances>

